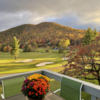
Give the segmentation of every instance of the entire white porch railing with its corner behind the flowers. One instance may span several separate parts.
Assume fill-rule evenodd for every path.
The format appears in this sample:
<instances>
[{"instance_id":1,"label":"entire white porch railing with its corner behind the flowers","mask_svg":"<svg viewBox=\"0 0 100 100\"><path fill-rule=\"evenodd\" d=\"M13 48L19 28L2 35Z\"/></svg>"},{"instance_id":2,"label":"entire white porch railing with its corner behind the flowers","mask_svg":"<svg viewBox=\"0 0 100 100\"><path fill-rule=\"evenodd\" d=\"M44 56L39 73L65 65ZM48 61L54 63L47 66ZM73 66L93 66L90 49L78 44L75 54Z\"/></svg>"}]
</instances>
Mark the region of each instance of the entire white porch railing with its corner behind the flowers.
<instances>
[{"instance_id":1,"label":"entire white porch railing with its corner behind the flowers","mask_svg":"<svg viewBox=\"0 0 100 100\"><path fill-rule=\"evenodd\" d=\"M66 75L62 75L56 72L52 72L49 70L38 70L38 71L31 71L31 72L25 72L25 73L20 73L20 74L14 74L14 75L9 75L6 77L0 77L0 84L2 83L2 80L5 79L11 79L11 78L15 78L15 77L19 77L19 76L25 76L27 77L28 75L31 75L33 73L41 73L43 75L46 75L50 78L54 78L55 80L61 81L62 77L68 78L68 79L72 79L75 80L77 82L81 82L83 84L83 88L82 91L88 93L91 95L91 100L100 100L100 86L98 85L94 85L92 83L88 83L79 79L75 79Z\"/></svg>"}]
</instances>

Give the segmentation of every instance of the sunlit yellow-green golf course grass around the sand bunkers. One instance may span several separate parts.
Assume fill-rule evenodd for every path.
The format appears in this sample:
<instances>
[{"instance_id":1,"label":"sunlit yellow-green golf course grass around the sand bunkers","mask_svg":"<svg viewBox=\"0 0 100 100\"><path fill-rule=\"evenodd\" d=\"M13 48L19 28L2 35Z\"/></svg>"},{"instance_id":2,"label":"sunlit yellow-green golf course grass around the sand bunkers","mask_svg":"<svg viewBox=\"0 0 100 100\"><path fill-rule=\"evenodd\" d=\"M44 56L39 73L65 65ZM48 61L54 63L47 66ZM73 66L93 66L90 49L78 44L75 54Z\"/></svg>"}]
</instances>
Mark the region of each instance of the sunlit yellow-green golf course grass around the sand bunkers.
<instances>
[{"instance_id":1,"label":"sunlit yellow-green golf course grass around the sand bunkers","mask_svg":"<svg viewBox=\"0 0 100 100\"><path fill-rule=\"evenodd\" d=\"M39 69L49 69L54 67L62 66L66 63L66 61L62 60L63 55L57 53L55 50L51 50L50 52L45 52L44 48L37 49L36 52L26 52L20 53L17 60L14 60L13 56L9 53L0 53L0 76L12 74L12 73L21 73L27 71L35 71ZM32 62L16 62L22 61L25 59L33 59ZM41 67L37 67L36 65L41 62L54 62L50 65L45 65ZM61 69L58 69L58 71ZM57 71L54 70L54 71Z\"/></svg>"}]
</instances>

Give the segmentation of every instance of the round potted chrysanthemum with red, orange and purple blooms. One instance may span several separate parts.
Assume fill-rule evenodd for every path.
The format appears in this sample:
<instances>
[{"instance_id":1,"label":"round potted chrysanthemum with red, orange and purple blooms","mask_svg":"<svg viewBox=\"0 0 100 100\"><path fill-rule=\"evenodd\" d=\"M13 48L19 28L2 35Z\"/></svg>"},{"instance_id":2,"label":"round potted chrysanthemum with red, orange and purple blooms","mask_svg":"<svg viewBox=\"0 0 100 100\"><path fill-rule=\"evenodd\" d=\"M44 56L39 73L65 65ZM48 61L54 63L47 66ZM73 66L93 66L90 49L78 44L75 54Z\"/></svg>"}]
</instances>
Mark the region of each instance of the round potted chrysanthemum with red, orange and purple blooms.
<instances>
[{"instance_id":1,"label":"round potted chrysanthemum with red, orange and purple blooms","mask_svg":"<svg viewBox=\"0 0 100 100\"><path fill-rule=\"evenodd\" d=\"M28 100L43 100L49 91L49 80L42 74L33 74L25 79L21 91Z\"/></svg>"}]
</instances>

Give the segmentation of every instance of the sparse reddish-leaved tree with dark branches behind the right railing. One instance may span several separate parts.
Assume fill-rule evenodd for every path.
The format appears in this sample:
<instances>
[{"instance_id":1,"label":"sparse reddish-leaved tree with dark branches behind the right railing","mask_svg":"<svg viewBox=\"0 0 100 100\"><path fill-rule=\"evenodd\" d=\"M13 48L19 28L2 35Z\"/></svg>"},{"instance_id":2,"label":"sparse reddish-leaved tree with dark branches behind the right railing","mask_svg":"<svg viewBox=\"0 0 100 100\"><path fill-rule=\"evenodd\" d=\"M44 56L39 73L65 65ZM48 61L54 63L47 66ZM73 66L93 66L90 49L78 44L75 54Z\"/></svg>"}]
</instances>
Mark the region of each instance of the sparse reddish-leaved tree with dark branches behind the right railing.
<instances>
[{"instance_id":1,"label":"sparse reddish-leaved tree with dark branches behind the right railing","mask_svg":"<svg viewBox=\"0 0 100 100\"><path fill-rule=\"evenodd\" d=\"M100 37L92 44L71 48L68 63L64 67L64 74L97 80L100 85Z\"/></svg>"}]
</instances>

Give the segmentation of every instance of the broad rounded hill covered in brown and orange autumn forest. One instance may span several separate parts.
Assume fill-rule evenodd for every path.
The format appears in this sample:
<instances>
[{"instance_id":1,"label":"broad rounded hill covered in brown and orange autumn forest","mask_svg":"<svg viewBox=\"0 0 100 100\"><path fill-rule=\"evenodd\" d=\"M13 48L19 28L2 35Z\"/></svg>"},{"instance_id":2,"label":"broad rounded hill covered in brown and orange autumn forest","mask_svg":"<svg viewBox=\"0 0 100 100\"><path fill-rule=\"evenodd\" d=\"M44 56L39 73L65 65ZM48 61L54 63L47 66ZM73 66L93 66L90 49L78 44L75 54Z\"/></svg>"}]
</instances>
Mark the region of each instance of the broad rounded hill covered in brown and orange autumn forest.
<instances>
[{"instance_id":1,"label":"broad rounded hill covered in brown and orange autumn forest","mask_svg":"<svg viewBox=\"0 0 100 100\"><path fill-rule=\"evenodd\" d=\"M84 30L74 29L54 22L43 22L37 25L24 24L0 32L0 43L11 44L16 36L21 44L36 42L39 46L44 44L56 45L60 39L69 38L71 41L80 40Z\"/></svg>"}]
</instances>

